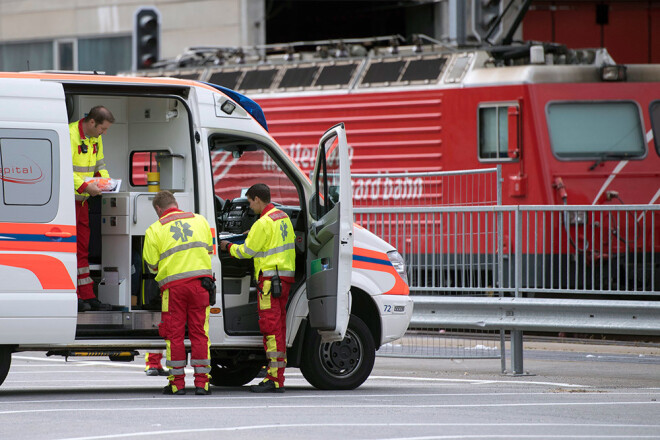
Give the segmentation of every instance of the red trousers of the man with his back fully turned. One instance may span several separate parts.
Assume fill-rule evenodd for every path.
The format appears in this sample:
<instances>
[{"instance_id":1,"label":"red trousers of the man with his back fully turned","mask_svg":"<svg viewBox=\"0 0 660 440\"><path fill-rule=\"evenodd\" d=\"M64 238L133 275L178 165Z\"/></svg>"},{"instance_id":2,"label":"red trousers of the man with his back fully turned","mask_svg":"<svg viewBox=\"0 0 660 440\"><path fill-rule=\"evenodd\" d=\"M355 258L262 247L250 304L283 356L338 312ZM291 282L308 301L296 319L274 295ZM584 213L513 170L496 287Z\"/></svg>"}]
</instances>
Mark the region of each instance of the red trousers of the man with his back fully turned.
<instances>
[{"instance_id":1,"label":"red trousers of the man with his back fully turned","mask_svg":"<svg viewBox=\"0 0 660 440\"><path fill-rule=\"evenodd\" d=\"M186 323L190 339L190 365L195 371L195 386L208 389L211 372L209 309L209 293L202 287L199 278L187 280L163 291L159 332L167 344L166 365L170 368L170 385L176 388L173 388L175 392L185 388Z\"/></svg>"}]
</instances>

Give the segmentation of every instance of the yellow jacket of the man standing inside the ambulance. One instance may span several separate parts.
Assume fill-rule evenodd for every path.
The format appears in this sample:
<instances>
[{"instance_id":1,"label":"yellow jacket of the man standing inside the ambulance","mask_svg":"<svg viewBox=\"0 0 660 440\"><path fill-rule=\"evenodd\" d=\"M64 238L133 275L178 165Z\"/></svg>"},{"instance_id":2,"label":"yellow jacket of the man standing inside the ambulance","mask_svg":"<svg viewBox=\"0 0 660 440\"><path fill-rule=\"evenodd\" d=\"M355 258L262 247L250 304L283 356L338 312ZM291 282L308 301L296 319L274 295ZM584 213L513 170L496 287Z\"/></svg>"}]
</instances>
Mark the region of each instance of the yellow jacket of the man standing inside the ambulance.
<instances>
[{"instance_id":1,"label":"yellow jacket of the man standing inside the ambulance","mask_svg":"<svg viewBox=\"0 0 660 440\"><path fill-rule=\"evenodd\" d=\"M110 177L103 158L103 141L101 136L86 138L82 132L80 121L69 124L69 138L71 139L71 156L73 158L73 189L76 200L86 200L89 194L84 193L85 177L94 177L99 173L101 177ZM87 146L87 153L82 152L82 146Z\"/></svg>"}]
</instances>

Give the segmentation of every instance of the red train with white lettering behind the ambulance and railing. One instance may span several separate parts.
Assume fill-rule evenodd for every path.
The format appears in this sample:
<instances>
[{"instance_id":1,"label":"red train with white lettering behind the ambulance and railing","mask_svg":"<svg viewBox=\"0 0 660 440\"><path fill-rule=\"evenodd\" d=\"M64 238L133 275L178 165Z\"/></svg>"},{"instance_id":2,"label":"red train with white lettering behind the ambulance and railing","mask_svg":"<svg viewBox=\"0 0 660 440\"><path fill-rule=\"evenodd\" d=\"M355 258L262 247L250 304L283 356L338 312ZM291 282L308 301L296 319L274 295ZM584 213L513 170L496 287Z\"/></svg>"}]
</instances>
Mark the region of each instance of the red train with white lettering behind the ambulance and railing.
<instances>
[{"instance_id":1,"label":"red train with white lettering behind the ambulance and railing","mask_svg":"<svg viewBox=\"0 0 660 440\"><path fill-rule=\"evenodd\" d=\"M355 174L501 165L504 205L659 203L660 65L617 65L605 49L568 50L555 44L465 51L418 45L398 48L396 54L372 50L364 57L289 58L149 74L195 78L249 95L263 108L269 132L305 171L311 171L314 162L316 133L343 121ZM265 162L263 170L267 175ZM232 173L226 177L231 179ZM476 194L470 204L495 202L492 188L475 190L474 182L470 188L443 191L442 181L434 186L425 185L424 179L356 177L354 205L462 204L466 191ZM476 182L491 185L487 180ZM232 187L230 181L227 185ZM436 192L430 193L429 188ZM630 236L636 230L640 240L649 238L643 245L636 240L634 252L649 256L647 273L657 278L660 222L632 223L617 225L617 234L627 233L621 230L627 227ZM581 237L584 242L593 226L576 229L570 240ZM407 231L413 234L419 229L408 225ZM507 246L509 227L503 232ZM599 242L603 249L592 246L588 255L581 254L586 247L577 242L563 250L554 243L540 258L559 264L560 254L568 259L571 252L591 262L594 252L598 260L614 258L620 245L616 251L604 248L619 239L608 241L607 235ZM528 241L522 249L529 248ZM481 251L475 252L473 244L470 252L484 254L484 238L474 243L479 243ZM633 250L632 240L626 243ZM427 242L417 245L413 253L425 254L426 259L431 248L436 253L444 249L451 259L450 254L465 252L465 246ZM473 258L480 265L489 261L488 255ZM541 267L540 260L535 264ZM587 288L584 284L573 287ZM594 283L587 284L593 287ZM659 284L655 281L654 289Z\"/></svg>"}]
</instances>

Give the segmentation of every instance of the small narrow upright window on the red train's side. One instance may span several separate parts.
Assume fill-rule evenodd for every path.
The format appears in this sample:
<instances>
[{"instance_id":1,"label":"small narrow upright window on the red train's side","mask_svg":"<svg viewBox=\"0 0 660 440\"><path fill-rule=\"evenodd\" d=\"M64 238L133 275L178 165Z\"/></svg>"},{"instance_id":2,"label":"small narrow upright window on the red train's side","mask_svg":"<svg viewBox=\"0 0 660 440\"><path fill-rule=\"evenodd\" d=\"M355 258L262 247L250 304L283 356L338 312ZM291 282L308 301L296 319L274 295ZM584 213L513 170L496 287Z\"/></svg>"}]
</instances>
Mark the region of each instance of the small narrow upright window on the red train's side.
<instances>
[{"instance_id":1,"label":"small narrow upright window on the red train's side","mask_svg":"<svg viewBox=\"0 0 660 440\"><path fill-rule=\"evenodd\" d=\"M490 105L479 108L479 159L509 160L509 105Z\"/></svg>"}]
</instances>

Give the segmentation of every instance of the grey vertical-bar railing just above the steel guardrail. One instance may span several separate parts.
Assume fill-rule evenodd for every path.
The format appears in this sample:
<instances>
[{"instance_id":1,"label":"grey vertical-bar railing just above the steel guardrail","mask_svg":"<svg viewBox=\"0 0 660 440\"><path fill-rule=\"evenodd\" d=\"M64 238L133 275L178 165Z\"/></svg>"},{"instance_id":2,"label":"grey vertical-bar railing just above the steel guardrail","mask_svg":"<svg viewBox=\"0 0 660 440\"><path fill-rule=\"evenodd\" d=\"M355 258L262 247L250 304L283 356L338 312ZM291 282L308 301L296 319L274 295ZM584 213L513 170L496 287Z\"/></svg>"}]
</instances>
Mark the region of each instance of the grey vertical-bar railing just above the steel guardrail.
<instances>
[{"instance_id":1,"label":"grey vertical-bar railing just above the steel guardrail","mask_svg":"<svg viewBox=\"0 0 660 440\"><path fill-rule=\"evenodd\" d=\"M355 208L425 295L660 296L660 206Z\"/></svg>"}]
</instances>

